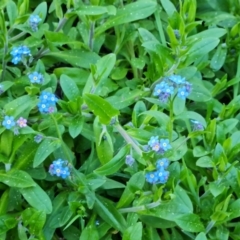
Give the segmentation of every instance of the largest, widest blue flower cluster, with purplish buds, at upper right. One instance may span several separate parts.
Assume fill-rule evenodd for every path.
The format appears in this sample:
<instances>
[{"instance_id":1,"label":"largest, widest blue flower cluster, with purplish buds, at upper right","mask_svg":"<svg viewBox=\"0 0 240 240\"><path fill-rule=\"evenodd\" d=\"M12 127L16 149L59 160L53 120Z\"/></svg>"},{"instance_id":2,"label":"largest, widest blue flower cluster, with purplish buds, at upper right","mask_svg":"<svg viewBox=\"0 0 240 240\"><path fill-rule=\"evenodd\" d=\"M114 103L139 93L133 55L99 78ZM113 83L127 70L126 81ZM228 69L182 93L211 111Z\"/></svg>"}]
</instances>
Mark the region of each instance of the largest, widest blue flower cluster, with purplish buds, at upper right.
<instances>
[{"instance_id":1,"label":"largest, widest blue flower cluster, with purplish buds, at upper right","mask_svg":"<svg viewBox=\"0 0 240 240\"><path fill-rule=\"evenodd\" d=\"M170 96L177 93L177 96L186 99L192 90L192 85L185 78L179 75L165 77L163 81L154 88L153 95L166 103Z\"/></svg>"}]
</instances>

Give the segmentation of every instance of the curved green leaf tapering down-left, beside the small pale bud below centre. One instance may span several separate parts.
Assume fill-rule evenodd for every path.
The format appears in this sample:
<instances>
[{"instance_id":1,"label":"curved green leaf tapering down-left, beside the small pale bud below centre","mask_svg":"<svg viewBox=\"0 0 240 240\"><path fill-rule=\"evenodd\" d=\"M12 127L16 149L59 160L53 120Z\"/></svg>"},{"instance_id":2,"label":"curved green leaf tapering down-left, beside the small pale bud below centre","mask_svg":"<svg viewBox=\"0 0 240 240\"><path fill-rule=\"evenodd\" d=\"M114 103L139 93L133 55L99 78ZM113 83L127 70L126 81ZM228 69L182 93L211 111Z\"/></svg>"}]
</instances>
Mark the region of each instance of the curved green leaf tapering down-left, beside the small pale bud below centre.
<instances>
[{"instance_id":1,"label":"curved green leaf tapering down-left, beside the small pale bud below centre","mask_svg":"<svg viewBox=\"0 0 240 240\"><path fill-rule=\"evenodd\" d=\"M124 165L126 155L129 153L130 148L130 145L126 145L114 156L111 161L96 169L94 172L103 176L111 175L117 172Z\"/></svg>"}]
</instances>

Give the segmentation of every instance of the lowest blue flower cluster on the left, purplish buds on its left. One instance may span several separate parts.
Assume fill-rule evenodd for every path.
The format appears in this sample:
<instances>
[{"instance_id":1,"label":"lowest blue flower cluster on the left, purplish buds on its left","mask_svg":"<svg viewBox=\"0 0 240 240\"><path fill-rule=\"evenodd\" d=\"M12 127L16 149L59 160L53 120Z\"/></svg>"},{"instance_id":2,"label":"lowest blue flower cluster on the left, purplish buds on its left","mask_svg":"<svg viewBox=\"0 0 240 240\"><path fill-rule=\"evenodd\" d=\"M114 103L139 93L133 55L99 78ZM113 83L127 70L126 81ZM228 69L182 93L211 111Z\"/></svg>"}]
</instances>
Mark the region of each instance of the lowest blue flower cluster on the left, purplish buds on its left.
<instances>
[{"instance_id":1,"label":"lowest blue flower cluster on the left, purplish buds on its left","mask_svg":"<svg viewBox=\"0 0 240 240\"><path fill-rule=\"evenodd\" d=\"M63 179L67 178L68 176L70 176L68 162L62 159L53 161L53 163L49 166L49 173Z\"/></svg>"}]
</instances>

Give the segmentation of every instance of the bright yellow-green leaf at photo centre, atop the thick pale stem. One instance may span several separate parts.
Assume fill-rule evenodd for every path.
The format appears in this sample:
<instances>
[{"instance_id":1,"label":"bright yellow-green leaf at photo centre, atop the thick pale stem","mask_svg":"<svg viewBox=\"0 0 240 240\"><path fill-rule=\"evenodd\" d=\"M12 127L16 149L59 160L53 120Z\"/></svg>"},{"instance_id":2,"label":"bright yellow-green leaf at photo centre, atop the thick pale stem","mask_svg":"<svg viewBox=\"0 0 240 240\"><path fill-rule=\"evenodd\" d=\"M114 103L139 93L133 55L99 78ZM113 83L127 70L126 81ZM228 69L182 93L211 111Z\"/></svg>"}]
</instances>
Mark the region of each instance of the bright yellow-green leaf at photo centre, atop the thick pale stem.
<instances>
[{"instance_id":1,"label":"bright yellow-green leaf at photo centre, atop the thick pale stem","mask_svg":"<svg viewBox=\"0 0 240 240\"><path fill-rule=\"evenodd\" d=\"M109 102L99 96L85 94L83 98L93 113L96 116L99 116L99 120L102 124L109 124L112 117L115 117L119 114L117 109L112 107Z\"/></svg>"}]
</instances>

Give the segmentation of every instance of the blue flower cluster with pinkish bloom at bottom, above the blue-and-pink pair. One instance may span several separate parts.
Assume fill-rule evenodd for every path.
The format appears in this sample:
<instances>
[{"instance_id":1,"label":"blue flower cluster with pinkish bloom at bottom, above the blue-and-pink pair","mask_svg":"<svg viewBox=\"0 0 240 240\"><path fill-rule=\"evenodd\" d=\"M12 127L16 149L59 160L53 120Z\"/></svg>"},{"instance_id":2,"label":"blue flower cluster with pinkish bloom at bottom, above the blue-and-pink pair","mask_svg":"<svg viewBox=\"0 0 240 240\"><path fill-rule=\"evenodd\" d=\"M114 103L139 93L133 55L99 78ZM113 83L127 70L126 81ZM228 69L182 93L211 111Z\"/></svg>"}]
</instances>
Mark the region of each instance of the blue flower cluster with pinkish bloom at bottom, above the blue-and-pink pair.
<instances>
[{"instance_id":1,"label":"blue flower cluster with pinkish bloom at bottom, above the blue-and-pink pair","mask_svg":"<svg viewBox=\"0 0 240 240\"><path fill-rule=\"evenodd\" d=\"M41 92L39 97L38 109L41 113L52 113L56 107L58 99L53 93Z\"/></svg>"}]
</instances>

